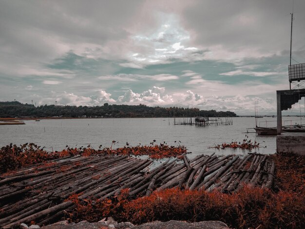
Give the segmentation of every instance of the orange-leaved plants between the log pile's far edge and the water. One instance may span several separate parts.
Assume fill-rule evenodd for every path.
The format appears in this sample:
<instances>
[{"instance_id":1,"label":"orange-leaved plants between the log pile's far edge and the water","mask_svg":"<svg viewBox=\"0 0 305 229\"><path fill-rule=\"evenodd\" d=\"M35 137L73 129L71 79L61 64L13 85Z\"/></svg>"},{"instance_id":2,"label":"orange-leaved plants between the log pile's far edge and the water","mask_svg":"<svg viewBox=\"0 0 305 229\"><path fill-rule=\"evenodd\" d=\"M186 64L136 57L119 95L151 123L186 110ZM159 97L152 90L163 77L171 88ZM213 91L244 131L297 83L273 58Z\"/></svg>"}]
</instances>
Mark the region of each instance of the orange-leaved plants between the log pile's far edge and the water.
<instances>
[{"instance_id":1,"label":"orange-leaved plants between the log pile's far edge and the water","mask_svg":"<svg viewBox=\"0 0 305 229\"><path fill-rule=\"evenodd\" d=\"M115 141L113 141L114 143ZM104 148L95 150L88 146L88 148L67 148L60 152L49 153L45 151L40 146L34 143L26 143L20 146L7 145L0 149L0 173L12 171L23 166L33 165L41 162L47 162L52 159L72 156L72 155L82 155L90 156L95 154L124 154L124 155L149 155L152 159L160 159L172 156L179 156L186 153L187 149L184 146L168 146L166 144L153 145L150 146L135 146L130 147L127 143L125 147L112 149Z\"/></svg>"}]
</instances>

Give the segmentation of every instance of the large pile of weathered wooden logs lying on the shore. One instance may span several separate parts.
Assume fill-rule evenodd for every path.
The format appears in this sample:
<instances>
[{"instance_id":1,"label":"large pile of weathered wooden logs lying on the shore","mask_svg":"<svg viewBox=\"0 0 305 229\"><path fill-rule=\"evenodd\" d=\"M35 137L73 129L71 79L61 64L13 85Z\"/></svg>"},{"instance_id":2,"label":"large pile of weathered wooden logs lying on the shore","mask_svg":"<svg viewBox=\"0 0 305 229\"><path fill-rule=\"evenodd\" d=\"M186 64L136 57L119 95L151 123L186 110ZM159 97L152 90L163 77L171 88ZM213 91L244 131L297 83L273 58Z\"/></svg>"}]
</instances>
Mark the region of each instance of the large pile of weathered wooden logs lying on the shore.
<instances>
[{"instance_id":1,"label":"large pile of weathered wooden logs lying on the shore","mask_svg":"<svg viewBox=\"0 0 305 229\"><path fill-rule=\"evenodd\" d=\"M181 163L182 162L182 163ZM46 225L75 208L67 198L105 199L129 188L131 198L172 187L239 190L244 184L269 188L274 163L267 155L199 155L168 159L149 170L151 160L122 155L65 157L0 176L0 228L35 221Z\"/></svg>"}]
</instances>

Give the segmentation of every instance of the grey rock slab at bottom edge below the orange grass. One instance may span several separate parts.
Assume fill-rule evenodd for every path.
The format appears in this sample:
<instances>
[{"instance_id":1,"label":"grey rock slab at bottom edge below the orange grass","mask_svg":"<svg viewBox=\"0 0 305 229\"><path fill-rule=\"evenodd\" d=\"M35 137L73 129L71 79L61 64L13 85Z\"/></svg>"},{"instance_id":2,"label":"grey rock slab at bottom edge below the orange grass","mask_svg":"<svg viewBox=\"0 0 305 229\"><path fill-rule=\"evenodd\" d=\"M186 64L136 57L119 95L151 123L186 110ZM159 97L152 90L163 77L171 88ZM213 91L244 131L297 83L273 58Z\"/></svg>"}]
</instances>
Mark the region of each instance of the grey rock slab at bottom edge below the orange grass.
<instances>
[{"instance_id":1,"label":"grey rock slab at bottom edge below the orange grass","mask_svg":"<svg viewBox=\"0 0 305 229\"><path fill-rule=\"evenodd\" d=\"M229 229L229 227L221 221L201 221L188 223L185 221L171 220L167 222L154 221L133 227L133 229Z\"/></svg>"}]
</instances>

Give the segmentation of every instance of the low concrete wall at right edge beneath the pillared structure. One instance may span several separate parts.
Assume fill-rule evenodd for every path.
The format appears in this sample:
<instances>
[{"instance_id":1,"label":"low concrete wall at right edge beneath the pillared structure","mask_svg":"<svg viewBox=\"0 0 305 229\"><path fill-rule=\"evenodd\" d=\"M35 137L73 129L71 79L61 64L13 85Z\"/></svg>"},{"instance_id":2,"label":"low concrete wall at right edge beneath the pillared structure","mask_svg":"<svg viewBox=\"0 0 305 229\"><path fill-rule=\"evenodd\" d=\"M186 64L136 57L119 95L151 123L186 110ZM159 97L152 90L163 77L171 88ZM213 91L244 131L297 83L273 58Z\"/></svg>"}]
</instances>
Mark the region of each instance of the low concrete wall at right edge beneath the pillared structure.
<instances>
[{"instance_id":1,"label":"low concrete wall at right edge beneath the pillared structure","mask_svg":"<svg viewBox=\"0 0 305 229\"><path fill-rule=\"evenodd\" d=\"M276 137L278 153L305 155L305 133L282 133Z\"/></svg>"}]
</instances>

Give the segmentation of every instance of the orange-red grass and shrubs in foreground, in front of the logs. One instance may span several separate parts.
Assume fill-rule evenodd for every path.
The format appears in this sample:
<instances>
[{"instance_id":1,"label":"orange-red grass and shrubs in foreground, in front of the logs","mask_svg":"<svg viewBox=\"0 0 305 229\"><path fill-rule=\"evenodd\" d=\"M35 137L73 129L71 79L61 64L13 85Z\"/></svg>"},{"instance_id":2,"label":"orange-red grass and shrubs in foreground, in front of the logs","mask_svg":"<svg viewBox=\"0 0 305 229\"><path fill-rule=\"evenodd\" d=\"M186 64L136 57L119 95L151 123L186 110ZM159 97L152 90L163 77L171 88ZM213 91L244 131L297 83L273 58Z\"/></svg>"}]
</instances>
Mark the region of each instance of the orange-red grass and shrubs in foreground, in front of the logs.
<instances>
[{"instance_id":1,"label":"orange-red grass and shrubs in foreground, in front of the logs","mask_svg":"<svg viewBox=\"0 0 305 229\"><path fill-rule=\"evenodd\" d=\"M114 216L118 221L131 221L133 224L154 220L221 220L233 228L302 228L305 222L304 193L275 193L249 186L233 194L173 188L127 200L124 192L95 203L70 198L76 209L69 211L66 217L74 222L94 222Z\"/></svg>"}]
</instances>

